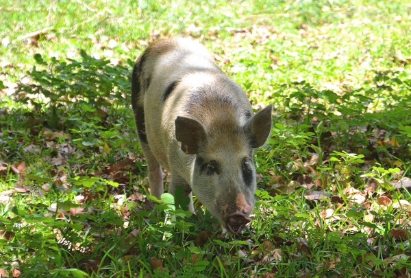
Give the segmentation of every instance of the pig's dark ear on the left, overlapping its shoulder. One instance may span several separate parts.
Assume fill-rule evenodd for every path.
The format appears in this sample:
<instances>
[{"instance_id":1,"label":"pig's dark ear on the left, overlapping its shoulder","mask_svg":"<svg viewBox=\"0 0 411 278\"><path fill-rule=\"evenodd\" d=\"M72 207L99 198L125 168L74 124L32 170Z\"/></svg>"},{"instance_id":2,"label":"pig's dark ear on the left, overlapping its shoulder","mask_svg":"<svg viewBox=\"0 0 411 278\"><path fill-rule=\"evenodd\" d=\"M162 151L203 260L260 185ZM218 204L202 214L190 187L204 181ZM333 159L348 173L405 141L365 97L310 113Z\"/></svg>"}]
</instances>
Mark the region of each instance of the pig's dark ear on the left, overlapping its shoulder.
<instances>
[{"instance_id":1,"label":"pig's dark ear on the left, overlapping its shoulder","mask_svg":"<svg viewBox=\"0 0 411 278\"><path fill-rule=\"evenodd\" d=\"M197 154L199 143L206 138L206 130L195 119L178 116L175 119L175 138L182 143L186 154Z\"/></svg>"}]
</instances>

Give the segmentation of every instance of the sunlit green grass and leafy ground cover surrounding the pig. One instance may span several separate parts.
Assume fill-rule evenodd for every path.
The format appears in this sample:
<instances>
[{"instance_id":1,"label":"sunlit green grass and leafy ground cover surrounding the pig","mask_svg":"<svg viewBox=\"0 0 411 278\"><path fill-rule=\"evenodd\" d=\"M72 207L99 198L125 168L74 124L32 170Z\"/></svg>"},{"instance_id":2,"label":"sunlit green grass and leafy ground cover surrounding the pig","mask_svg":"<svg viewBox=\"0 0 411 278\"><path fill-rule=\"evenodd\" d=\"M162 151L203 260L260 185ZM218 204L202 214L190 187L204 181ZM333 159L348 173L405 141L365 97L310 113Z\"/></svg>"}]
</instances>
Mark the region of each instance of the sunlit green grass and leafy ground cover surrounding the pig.
<instances>
[{"instance_id":1,"label":"sunlit green grass and leafy ground cover surrounding the pig","mask_svg":"<svg viewBox=\"0 0 411 278\"><path fill-rule=\"evenodd\" d=\"M0 276L409 277L410 5L0 0ZM147 192L127 73L164 36L275 106L240 235Z\"/></svg>"}]
</instances>

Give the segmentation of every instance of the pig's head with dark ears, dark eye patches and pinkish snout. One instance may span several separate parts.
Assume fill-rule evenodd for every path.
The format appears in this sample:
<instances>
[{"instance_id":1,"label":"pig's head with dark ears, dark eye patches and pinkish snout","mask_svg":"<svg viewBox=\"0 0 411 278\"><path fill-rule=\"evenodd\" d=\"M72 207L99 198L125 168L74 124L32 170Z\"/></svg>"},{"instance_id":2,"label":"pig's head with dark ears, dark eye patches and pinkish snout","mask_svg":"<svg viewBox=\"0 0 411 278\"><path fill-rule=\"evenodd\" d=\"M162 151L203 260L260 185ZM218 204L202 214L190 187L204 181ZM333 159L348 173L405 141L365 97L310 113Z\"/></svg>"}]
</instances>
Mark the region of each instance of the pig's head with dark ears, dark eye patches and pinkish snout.
<instances>
[{"instance_id":1,"label":"pig's head with dark ears, dark eye patches and pinkish snout","mask_svg":"<svg viewBox=\"0 0 411 278\"><path fill-rule=\"evenodd\" d=\"M221 226L239 233L254 207L256 169L253 149L262 146L271 130L272 105L245 124L217 119L201 124L177 117L175 135L186 154L196 154L191 187Z\"/></svg>"}]
</instances>

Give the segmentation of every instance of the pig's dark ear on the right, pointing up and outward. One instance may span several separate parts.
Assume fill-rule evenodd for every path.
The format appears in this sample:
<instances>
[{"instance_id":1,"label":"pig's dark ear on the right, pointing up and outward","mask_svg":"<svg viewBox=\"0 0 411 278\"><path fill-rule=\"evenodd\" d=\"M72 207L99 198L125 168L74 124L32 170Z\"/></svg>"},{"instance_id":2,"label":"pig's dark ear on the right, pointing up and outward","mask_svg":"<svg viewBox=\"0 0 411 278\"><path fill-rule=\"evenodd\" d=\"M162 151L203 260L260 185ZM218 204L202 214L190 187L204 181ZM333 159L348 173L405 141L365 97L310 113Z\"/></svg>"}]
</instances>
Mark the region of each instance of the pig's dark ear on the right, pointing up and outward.
<instances>
[{"instance_id":1,"label":"pig's dark ear on the right, pointing up and outward","mask_svg":"<svg viewBox=\"0 0 411 278\"><path fill-rule=\"evenodd\" d=\"M261 147L264 145L267 137L269 137L271 125L273 124L271 119L272 110L273 104L270 104L262 109L262 111L258 111L256 115L253 115L253 117L245 123L244 130L249 136L251 148Z\"/></svg>"}]
</instances>

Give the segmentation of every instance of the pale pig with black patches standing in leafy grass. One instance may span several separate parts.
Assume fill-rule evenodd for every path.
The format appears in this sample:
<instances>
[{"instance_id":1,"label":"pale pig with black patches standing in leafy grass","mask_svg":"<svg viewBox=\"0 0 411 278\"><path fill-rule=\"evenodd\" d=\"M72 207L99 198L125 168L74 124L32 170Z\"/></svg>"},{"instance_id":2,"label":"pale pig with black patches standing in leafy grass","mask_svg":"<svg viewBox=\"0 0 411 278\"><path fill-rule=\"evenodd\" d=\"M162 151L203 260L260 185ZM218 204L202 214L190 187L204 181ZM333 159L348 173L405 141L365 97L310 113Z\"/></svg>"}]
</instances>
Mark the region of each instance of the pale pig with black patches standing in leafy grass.
<instances>
[{"instance_id":1,"label":"pale pig with black patches standing in leafy grass","mask_svg":"<svg viewBox=\"0 0 411 278\"><path fill-rule=\"evenodd\" d=\"M182 186L221 227L240 233L251 220L256 191L254 149L271 131L272 105L255 115L240 86L205 47L188 38L152 43L132 73L132 108L149 170L151 195Z\"/></svg>"}]
</instances>

